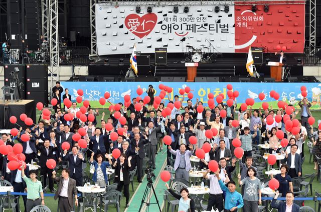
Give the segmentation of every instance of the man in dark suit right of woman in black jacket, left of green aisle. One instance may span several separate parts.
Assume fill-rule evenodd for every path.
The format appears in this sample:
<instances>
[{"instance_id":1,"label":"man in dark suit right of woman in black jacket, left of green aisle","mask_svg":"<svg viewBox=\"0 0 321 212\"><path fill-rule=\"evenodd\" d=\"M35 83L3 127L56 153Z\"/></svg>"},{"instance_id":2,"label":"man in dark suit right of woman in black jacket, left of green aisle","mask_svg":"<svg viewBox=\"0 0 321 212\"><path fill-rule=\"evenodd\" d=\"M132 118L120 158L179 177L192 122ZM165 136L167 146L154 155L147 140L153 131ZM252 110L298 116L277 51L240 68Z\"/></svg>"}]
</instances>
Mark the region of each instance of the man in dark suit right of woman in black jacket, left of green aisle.
<instances>
[{"instance_id":1,"label":"man in dark suit right of woman in black jacket, left of green aisle","mask_svg":"<svg viewBox=\"0 0 321 212\"><path fill-rule=\"evenodd\" d=\"M144 151L144 144L148 143L147 136L145 135L146 139L142 139L140 137L139 133L134 134L134 139L131 140L131 148L135 149L135 163L137 165L137 180L138 182L141 182L142 177L142 162L143 158L145 157L145 151ZM135 166L135 163L133 163L133 166Z\"/></svg>"}]
</instances>

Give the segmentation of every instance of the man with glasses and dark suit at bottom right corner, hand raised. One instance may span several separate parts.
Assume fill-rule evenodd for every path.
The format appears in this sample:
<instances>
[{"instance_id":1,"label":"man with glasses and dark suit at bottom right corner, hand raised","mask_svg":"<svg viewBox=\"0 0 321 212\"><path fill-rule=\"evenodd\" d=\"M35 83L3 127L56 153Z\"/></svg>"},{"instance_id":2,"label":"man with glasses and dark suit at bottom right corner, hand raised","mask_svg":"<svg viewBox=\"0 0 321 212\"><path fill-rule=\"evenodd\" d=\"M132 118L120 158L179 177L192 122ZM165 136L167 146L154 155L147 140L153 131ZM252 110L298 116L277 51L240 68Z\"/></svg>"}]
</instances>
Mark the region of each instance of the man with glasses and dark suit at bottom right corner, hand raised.
<instances>
[{"instance_id":1,"label":"man with glasses and dark suit at bottom right corner, hand raised","mask_svg":"<svg viewBox=\"0 0 321 212\"><path fill-rule=\"evenodd\" d=\"M285 201L276 201L277 197L279 196L279 191L275 191L275 196L271 202L271 207L278 209L278 212L299 212L300 206L293 202L294 200L294 193L292 191L287 191L285 195ZM290 210L288 210L290 209Z\"/></svg>"}]
</instances>

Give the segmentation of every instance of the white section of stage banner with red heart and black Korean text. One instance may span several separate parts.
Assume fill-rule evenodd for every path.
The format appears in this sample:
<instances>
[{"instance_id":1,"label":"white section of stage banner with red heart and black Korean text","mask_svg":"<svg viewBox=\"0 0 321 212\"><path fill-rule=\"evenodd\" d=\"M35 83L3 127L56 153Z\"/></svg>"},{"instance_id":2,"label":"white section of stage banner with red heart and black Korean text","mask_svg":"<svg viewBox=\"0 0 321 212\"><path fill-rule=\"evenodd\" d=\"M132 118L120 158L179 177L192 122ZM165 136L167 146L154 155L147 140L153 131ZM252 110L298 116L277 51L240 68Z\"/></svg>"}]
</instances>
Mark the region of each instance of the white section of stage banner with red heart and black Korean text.
<instances>
[{"instance_id":1,"label":"white section of stage banner with red heart and black Korean text","mask_svg":"<svg viewBox=\"0 0 321 212\"><path fill-rule=\"evenodd\" d=\"M98 54L131 53L134 43L137 51L153 53L157 47L167 47L168 52L187 52L187 46L201 48L206 52L234 52L235 28L234 6L229 12L215 12L215 6L152 7L106 6L96 4L96 36ZM185 41L182 41L184 40Z\"/></svg>"}]
</instances>

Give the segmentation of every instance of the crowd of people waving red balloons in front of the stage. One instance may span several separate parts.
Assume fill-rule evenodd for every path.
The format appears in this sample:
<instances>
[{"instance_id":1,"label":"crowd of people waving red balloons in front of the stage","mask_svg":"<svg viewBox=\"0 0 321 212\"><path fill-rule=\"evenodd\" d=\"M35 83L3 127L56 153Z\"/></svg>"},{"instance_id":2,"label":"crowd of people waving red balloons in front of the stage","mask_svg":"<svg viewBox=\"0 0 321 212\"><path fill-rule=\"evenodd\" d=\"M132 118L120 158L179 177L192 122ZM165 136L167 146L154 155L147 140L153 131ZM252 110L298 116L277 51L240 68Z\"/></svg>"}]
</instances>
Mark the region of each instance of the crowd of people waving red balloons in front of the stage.
<instances>
[{"instance_id":1,"label":"crowd of people waving red balloons in front of the stage","mask_svg":"<svg viewBox=\"0 0 321 212\"><path fill-rule=\"evenodd\" d=\"M136 168L137 181L142 182L143 176L143 159L148 158L148 166L156 169L156 154L159 150L167 151L167 164L173 165L177 178L189 179L189 171L193 169L190 157L195 155L198 148L202 148L204 143L210 143L212 149L205 154L199 162L197 168L206 169L203 180L208 183L210 192L207 210L218 208L219 211L237 211L243 207L243 211L258 211L258 205L261 204L262 183L257 177L258 170L253 158L253 149L257 149L260 143L269 143L268 152L279 152L285 156L280 166L281 173L271 178L275 178L280 182L279 192L286 197L286 204L279 204L272 201L272 206L279 208L279 211L297 211L288 210L288 208L296 208L292 201L288 201L293 197L292 179L302 174L302 157L304 141L309 138L316 147L321 144L321 132L312 132L312 127L308 123L308 117L312 116L309 110L311 106L307 98L303 98L299 102L300 109L293 111L290 118L297 118L300 121L298 134L288 132L283 119L272 124L268 124L266 117L271 115L273 118L276 114L283 116L285 111L282 108L273 110L249 109L242 111L236 110L237 104L234 101L232 106L219 103L213 109L204 107L203 111L198 111L198 105L203 105L202 101L196 99L193 104L192 99L187 100L187 105L183 105L183 99L178 95L170 102L181 101L181 108L174 107L171 114L164 116L162 111L165 109L164 102L160 103L156 108L153 107L153 98L146 107L143 100L138 102L136 98L132 98L132 103L126 107L121 102L119 112L125 117L126 123L121 123L119 118L115 117L115 110L110 109L109 117L106 118L105 112L102 112L100 120L96 119L99 110L87 107L86 116L93 114L93 121L82 121L77 117L76 113L80 110L77 102L72 102L72 106L62 108L61 94L65 91L64 97L71 99L68 94L68 88L63 89L57 82L53 87L54 98L58 99L58 104L53 108L54 114L51 120L40 117L37 125L33 127L20 128L19 133L15 137L9 134L2 134L5 144L14 145L14 140L23 145L23 153L26 155L26 163L31 163L39 159L40 174L44 176L43 183L37 178L37 172L29 170L28 166L25 170L11 171L8 168L6 156L1 158L2 179L10 181L14 186L15 192L24 192L25 188L32 187L35 191L33 194L28 189L28 195L23 196L25 211L29 211L35 205L44 204L42 188L46 187L46 177L48 176L48 188L54 191L54 182L59 181L58 189L55 192L55 199L59 197L58 206L60 211L70 211L73 203L78 204L76 186L83 186L84 169L89 162L94 167L92 180L99 186L106 186L108 177L106 167L115 169L114 182L118 183L117 189L123 190L126 198L126 207L129 202L129 171ZM153 97L152 86L148 88L148 96ZM172 101L171 101L172 100ZM141 109L136 111L135 104L140 103ZM112 103L113 104L113 103ZM288 105L291 106L291 105ZM221 111L226 110L226 115L222 116ZM64 118L69 113L73 118ZM129 113L129 114L128 114ZM233 120L239 120L239 126L233 126ZM100 124L98 123L100 122ZM106 128L107 125L112 128ZM79 144L73 140L73 135L78 133L80 128L85 129L86 134L82 136L87 143L87 148L81 148ZM119 134L116 140L112 140L111 133L119 128L124 128L123 134ZM218 133L211 138L205 134L207 129L216 128ZM284 137L289 140L287 148L279 148L279 138L276 132L281 130ZM30 140L24 142L21 135L27 134ZM163 137L169 135L172 143L164 147ZM197 143L191 144L189 137L196 136ZM262 136L262 135L265 135ZM242 158L238 159L234 155L233 139L239 138L242 141L241 147L244 150ZM68 142L69 149L63 149L62 143ZM159 147L158 147L159 144ZM110 157L114 149L119 149L121 154L115 159ZM315 148L315 155L320 155L320 148ZM40 156L38 155L40 153ZM46 166L48 159L54 159L57 164L67 162L68 167L64 168L61 177L57 176L56 169ZM211 172L208 163L216 160L219 163L219 169ZM174 163L173 163L174 161ZM236 169L236 163L239 161L240 173L238 181L233 181L231 172ZM316 161L316 160L315 160ZM160 167L158 167L160 168ZM315 167L316 168L316 167ZM28 178L28 177L30 178ZM36 186L37 185L37 186ZM236 191L236 186L242 186L241 193ZM169 184L166 187L176 198L180 199L179 211L194 211L195 202L193 197L189 195L187 188L180 190L180 194L173 191ZM41 201L39 193L41 196ZM288 196L290 196L288 198ZM32 201L31 201L32 200ZM285 210L286 209L286 210Z\"/></svg>"}]
</instances>

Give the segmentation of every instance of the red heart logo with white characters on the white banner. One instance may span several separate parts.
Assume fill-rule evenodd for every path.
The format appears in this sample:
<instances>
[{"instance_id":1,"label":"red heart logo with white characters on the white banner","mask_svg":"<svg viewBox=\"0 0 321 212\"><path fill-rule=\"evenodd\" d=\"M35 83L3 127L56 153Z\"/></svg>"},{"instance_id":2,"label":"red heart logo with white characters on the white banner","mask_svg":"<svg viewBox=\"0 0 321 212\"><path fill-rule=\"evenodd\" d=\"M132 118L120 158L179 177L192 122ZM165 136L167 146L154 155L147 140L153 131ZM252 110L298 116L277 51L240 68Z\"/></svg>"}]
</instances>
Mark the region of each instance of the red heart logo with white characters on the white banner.
<instances>
[{"instance_id":1,"label":"red heart logo with white characters on the white banner","mask_svg":"<svg viewBox=\"0 0 321 212\"><path fill-rule=\"evenodd\" d=\"M148 35L155 27L157 15L155 13L147 13L143 16L137 14L129 14L125 18L125 25L131 33L143 38Z\"/></svg>"}]
</instances>

